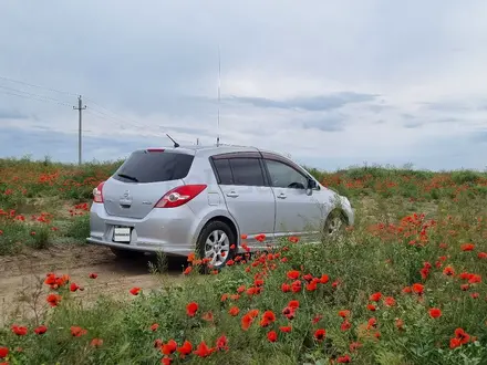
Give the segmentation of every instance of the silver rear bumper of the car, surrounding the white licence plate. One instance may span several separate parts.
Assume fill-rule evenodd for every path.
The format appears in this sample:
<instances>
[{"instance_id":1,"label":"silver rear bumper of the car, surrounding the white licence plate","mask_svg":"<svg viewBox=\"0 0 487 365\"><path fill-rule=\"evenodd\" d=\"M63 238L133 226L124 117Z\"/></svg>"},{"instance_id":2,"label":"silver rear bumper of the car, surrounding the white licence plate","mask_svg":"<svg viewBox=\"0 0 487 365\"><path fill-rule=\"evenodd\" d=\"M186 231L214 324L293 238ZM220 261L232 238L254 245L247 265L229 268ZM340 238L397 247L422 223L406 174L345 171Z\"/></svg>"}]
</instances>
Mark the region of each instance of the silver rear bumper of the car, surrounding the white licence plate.
<instances>
[{"instance_id":1,"label":"silver rear bumper of the car, surrounding the white licence plate","mask_svg":"<svg viewBox=\"0 0 487 365\"><path fill-rule=\"evenodd\" d=\"M188 255L195 250L196 217L188 207L153 209L142 219L108 216L103 204L93 204L90 211L87 243L111 248ZM131 242L113 241L115 227L132 228Z\"/></svg>"}]
</instances>

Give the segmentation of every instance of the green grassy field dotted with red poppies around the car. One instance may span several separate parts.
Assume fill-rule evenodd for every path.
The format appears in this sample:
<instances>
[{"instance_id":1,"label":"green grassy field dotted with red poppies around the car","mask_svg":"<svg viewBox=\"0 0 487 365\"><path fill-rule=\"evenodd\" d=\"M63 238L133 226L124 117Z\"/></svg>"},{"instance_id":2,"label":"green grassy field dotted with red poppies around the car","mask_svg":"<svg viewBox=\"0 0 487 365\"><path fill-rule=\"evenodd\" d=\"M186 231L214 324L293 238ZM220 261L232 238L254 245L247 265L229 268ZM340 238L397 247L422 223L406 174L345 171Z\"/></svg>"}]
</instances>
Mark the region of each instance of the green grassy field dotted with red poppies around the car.
<instances>
[{"instance_id":1,"label":"green grassy field dotted with red poppies around the car","mask_svg":"<svg viewBox=\"0 0 487 365\"><path fill-rule=\"evenodd\" d=\"M84 244L115 167L0 160L0 255ZM183 280L117 298L97 272L46 271L34 315L0 327L0 364L487 364L487 175L312 174L356 209L342 236L250 254L244 234L224 270L190 254Z\"/></svg>"}]
</instances>

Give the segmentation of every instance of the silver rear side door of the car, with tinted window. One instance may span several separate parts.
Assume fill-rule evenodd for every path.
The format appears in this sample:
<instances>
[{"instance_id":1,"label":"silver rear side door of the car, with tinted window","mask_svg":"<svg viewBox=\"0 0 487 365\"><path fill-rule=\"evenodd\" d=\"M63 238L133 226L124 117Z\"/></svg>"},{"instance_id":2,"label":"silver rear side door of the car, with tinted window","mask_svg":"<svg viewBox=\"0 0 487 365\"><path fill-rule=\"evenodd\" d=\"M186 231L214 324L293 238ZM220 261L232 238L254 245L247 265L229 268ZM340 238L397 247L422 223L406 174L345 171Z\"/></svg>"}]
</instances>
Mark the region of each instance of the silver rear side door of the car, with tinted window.
<instances>
[{"instance_id":1,"label":"silver rear side door of the car, with tinted window","mask_svg":"<svg viewBox=\"0 0 487 365\"><path fill-rule=\"evenodd\" d=\"M240 233L248 236L247 244L257 248L272 242L276 199L267 184L260 155L215 156L213 164L228 211ZM261 233L267 238L263 244L255 238Z\"/></svg>"}]
</instances>

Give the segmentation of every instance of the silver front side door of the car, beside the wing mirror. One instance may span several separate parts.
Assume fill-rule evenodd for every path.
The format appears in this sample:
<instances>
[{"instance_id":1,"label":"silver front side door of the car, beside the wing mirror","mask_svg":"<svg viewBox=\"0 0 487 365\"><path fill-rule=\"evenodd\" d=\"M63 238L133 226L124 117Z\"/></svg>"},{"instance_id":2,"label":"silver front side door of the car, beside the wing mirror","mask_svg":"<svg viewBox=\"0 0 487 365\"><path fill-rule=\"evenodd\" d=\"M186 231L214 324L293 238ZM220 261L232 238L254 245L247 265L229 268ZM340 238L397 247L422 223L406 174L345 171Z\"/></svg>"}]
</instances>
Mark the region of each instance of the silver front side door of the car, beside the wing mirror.
<instances>
[{"instance_id":1,"label":"silver front side door of the car, beside the wing mirror","mask_svg":"<svg viewBox=\"0 0 487 365\"><path fill-rule=\"evenodd\" d=\"M278 157L266 157L263 161L276 196L276 239L319 232L327 215L319 187L308 195L309 177L298 166Z\"/></svg>"}]
</instances>

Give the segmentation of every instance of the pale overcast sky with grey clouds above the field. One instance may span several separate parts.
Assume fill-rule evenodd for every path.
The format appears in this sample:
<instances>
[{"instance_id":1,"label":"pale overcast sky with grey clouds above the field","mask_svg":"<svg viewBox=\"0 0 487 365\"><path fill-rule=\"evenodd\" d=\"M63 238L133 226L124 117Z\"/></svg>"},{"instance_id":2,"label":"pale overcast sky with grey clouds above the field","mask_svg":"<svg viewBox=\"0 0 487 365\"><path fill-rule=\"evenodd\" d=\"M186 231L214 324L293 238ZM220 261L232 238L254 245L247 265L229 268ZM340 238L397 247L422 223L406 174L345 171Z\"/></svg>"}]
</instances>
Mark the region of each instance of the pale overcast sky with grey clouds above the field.
<instances>
[{"instance_id":1,"label":"pale overcast sky with grey clouds above the field","mask_svg":"<svg viewBox=\"0 0 487 365\"><path fill-rule=\"evenodd\" d=\"M221 142L325 169L487 166L485 0L0 2L0 157ZM33 86L34 85L34 86ZM42 87L38 87L42 86Z\"/></svg>"}]
</instances>

